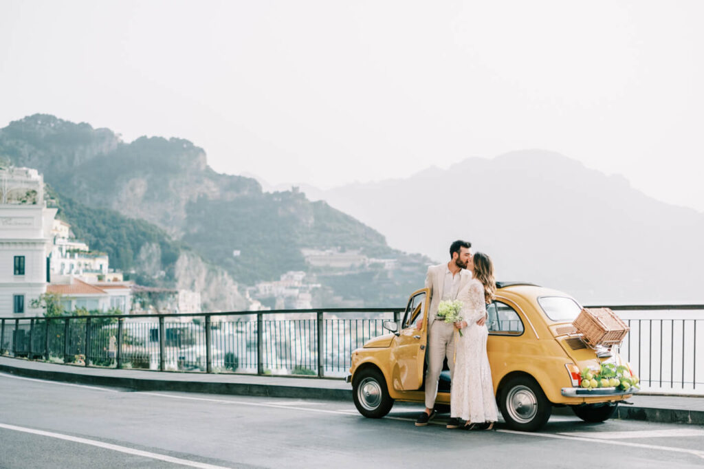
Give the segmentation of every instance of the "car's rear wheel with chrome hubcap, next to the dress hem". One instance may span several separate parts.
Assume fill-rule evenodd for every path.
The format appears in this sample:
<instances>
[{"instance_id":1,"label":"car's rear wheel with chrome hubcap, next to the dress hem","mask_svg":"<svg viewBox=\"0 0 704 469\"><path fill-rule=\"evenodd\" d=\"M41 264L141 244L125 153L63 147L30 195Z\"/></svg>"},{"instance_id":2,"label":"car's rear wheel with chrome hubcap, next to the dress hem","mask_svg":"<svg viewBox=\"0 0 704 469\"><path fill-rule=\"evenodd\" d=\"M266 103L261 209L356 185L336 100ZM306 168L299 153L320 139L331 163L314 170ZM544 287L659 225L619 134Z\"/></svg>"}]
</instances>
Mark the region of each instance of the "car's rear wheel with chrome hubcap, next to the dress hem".
<instances>
[{"instance_id":1,"label":"car's rear wheel with chrome hubcap, next to the dress hem","mask_svg":"<svg viewBox=\"0 0 704 469\"><path fill-rule=\"evenodd\" d=\"M523 432L539 430L552 411L543 389L529 376L513 377L501 387L498 404L506 424Z\"/></svg>"}]
</instances>

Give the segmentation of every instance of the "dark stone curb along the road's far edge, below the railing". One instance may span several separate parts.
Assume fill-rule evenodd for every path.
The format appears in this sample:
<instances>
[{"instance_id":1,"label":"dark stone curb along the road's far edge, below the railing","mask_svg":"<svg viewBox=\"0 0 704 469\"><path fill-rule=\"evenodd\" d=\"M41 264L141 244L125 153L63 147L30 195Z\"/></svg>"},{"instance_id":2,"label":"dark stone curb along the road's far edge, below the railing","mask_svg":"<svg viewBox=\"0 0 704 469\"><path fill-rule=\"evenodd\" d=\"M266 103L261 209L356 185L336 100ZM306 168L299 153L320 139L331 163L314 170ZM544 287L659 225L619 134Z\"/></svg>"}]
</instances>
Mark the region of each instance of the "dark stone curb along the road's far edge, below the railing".
<instances>
[{"instance_id":1,"label":"dark stone curb along the road's far edge, below the railing","mask_svg":"<svg viewBox=\"0 0 704 469\"><path fill-rule=\"evenodd\" d=\"M294 399L325 399L330 401L352 401L352 389L329 389L323 387L289 386L285 384L253 384L236 382L213 382L207 380L153 380L137 377L83 375L53 370L35 370L0 364L0 371L11 375L68 382L94 386L121 387L134 391L175 391L203 394L230 394L233 396L288 397ZM199 377L200 378L200 377ZM700 399L700 398L692 398ZM553 408L555 415L572 415L568 408ZM643 420L657 423L684 423L704 425L704 411L644 406L624 406L617 409L614 418Z\"/></svg>"}]
</instances>

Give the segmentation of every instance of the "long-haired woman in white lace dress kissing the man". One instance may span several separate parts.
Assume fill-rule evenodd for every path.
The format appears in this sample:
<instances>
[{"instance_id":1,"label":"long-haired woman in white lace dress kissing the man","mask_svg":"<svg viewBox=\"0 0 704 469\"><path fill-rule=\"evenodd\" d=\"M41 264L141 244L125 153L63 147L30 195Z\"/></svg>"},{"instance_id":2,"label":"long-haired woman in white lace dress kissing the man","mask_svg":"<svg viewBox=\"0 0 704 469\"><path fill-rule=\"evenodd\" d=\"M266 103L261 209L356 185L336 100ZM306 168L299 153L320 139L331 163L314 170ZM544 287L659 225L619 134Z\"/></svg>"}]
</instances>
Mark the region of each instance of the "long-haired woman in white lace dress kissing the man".
<instances>
[{"instance_id":1,"label":"long-haired woman in white lace dress kissing the man","mask_svg":"<svg viewBox=\"0 0 704 469\"><path fill-rule=\"evenodd\" d=\"M457 337L455 373L450 393L451 418L466 420L465 430L491 430L498 420L494 384L486 355L486 325L477 320L486 315L486 304L494 299L494 264L486 254L477 252L467 263L474 275L458 293L463 302L463 320L455 323L463 335Z\"/></svg>"}]
</instances>

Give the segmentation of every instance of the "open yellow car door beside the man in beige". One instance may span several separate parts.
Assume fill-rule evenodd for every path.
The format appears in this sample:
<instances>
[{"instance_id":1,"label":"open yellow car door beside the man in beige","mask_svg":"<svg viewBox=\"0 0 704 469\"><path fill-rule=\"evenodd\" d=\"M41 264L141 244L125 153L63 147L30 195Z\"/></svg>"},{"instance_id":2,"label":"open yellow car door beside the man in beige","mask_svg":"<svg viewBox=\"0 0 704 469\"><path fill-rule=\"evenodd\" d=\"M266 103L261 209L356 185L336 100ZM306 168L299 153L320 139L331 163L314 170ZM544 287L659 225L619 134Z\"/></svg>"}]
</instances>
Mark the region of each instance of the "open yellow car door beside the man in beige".
<instances>
[{"instance_id":1,"label":"open yellow car door beside the man in beige","mask_svg":"<svg viewBox=\"0 0 704 469\"><path fill-rule=\"evenodd\" d=\"M427 346L430 290L420 289L408 299L401 319L401 331L391 345L391 370L394 389L415 391L423 384L423 365ZM416 323L420 321L420 329Z\"/></svg>"}]
</instances>

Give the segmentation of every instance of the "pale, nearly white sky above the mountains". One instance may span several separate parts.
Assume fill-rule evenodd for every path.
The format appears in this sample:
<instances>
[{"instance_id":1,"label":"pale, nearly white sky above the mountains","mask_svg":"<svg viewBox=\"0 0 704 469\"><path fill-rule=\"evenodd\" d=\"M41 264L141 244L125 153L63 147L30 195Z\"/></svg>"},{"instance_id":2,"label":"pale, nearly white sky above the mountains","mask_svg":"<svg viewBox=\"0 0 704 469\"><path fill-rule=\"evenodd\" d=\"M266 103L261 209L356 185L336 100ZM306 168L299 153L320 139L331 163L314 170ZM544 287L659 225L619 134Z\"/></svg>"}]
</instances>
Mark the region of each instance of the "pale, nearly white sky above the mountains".
<instances>
[{"instance_id":1,"label":"pale, nearly white sky above the mountains","mask_svg":"<svg viewBox=\"0 0 704 469\"><path fill-rule=\"evenodd\" d=\"M0 127L322 188L546 149L704 212L704 1L0 0Z\"/></svg>"}]
</instances>

